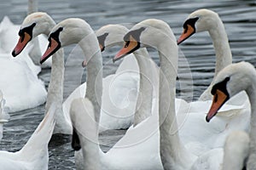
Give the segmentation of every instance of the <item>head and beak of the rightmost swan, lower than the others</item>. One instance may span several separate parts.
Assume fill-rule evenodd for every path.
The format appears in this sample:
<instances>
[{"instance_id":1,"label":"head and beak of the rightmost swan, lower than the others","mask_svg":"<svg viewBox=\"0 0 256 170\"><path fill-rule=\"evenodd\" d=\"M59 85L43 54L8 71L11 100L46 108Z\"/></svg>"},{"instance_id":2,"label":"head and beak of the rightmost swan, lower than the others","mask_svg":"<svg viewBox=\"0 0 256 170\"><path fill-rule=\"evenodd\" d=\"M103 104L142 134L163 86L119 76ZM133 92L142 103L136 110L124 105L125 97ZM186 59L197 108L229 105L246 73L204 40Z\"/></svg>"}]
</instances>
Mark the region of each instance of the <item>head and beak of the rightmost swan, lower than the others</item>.
<instances>
[{"instance_id":1,"label":"head and beak of the rightmost swan, lower than the others","mask_svg":"<svg viewBox=\"0 0 256 170\"><path fill-rule=\"evenodd\" d=\"M253 65L247 62L240 62L226 66L218 73L212 86L212 106L207 113L206 120L210 122L218 110L234 95L252 86L252 81L256 77Z\"/></svg>"}]
</instances>

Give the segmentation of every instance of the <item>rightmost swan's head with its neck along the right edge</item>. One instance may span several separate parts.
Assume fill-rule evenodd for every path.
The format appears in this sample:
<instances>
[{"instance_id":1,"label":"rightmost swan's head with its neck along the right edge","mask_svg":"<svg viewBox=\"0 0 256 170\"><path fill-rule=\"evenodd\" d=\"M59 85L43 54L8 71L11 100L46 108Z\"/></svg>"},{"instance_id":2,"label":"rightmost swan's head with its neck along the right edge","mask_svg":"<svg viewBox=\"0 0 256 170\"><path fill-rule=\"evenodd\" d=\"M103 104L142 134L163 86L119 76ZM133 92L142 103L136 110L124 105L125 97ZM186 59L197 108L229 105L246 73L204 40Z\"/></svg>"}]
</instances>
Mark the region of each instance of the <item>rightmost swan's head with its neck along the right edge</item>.
<instances>
[{"instance_id":1,"label":"rightmost swan's head with its neck along the right edge","mask_svg":"<svg viewBox=\"0 0 256 170\"><path fill-rule=\"evenodd\" d=\"M247 169L255 169L256 156L256 137L255 137L255 78L256 71L250 63L240 62L228 65L219 72L216 81L212 86L212 106L207 114L207 122L212 120L212 117L218 114L218 110L224 106L224 103L236 96L242 90L248 95L251 104L251 122L250 122L250 154L247 160ZM239 82L239 83L237 83Z\"/></svg>"}]
</instances>

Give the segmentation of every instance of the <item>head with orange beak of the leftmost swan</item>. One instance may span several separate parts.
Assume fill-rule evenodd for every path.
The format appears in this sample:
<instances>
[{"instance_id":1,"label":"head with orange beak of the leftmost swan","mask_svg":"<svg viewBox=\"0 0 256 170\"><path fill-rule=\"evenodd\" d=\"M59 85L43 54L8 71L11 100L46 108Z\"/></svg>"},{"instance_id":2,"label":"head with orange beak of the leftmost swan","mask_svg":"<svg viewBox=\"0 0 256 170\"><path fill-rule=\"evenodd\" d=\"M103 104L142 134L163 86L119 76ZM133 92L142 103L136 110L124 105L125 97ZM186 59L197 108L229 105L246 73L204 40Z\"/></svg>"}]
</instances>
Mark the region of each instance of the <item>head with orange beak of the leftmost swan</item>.
<instances>
[{"instance_id":1,"label":"head with orange beak of the leftmost swan","mask_svg":"<svg viewBox=\"0 0 256 170\"><path fill-rule=\"evenodd\" d=\"M55 25L55 21L49 16L49 14L43 12L36 12L26 16L20 26L19 36L20 39L12 52L15 57L21 53L26 47L26 44L30 42L34 37L44 33L49 33L49 28Z\"/></svg>"}]
</instances>

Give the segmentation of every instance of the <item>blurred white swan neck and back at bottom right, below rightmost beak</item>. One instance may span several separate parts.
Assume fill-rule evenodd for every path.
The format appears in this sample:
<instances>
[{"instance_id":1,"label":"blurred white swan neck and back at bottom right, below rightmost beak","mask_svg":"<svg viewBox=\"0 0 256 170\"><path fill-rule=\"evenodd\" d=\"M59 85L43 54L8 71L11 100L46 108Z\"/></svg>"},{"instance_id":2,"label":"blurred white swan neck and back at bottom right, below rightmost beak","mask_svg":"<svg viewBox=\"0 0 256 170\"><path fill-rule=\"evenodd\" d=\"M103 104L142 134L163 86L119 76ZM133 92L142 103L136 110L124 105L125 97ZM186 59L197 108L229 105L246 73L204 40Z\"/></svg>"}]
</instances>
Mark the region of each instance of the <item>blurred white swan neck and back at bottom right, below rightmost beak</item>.
<instances>
[{"instance_id":1,"label":"blurred white swan neck and back at bottom right, below rightmost beak","mask_svg":"<svg viewBox=\"0 0 256 170\"><path fill-rule=\"evenodd\" d=\"M191 170L241 170L249 154L249 136L244 131L233 131L225 139L224 148L202 154Z\"/></svg>"}]
</instances>

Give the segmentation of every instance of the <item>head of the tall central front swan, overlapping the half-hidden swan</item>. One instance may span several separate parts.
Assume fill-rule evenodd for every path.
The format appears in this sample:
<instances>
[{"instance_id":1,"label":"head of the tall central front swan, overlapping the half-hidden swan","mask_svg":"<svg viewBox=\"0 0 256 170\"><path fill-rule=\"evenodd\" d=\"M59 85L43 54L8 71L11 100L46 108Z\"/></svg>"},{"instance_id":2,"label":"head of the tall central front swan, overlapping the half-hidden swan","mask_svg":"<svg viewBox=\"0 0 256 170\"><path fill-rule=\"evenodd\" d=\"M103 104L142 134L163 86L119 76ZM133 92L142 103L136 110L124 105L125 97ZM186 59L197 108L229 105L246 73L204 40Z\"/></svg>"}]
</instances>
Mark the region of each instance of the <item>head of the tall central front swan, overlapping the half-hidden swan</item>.
<instances>
[{"instance_id":1,"label":"head of the tall central front swan, overlapping the half-hidden swan","mask_svg":"<svg viewBox=\"0 0 256 170\"><path fill-rule=\"evenodd\" d=\"M125 45L119 53L114 56L113 61L133 53L138 48L159 48L160 41L166 38L176 43L172 30L166 22L156 19L143 20L133 26L131 30L125 34L123 38Z\"/></svg>"}]
</instances>

